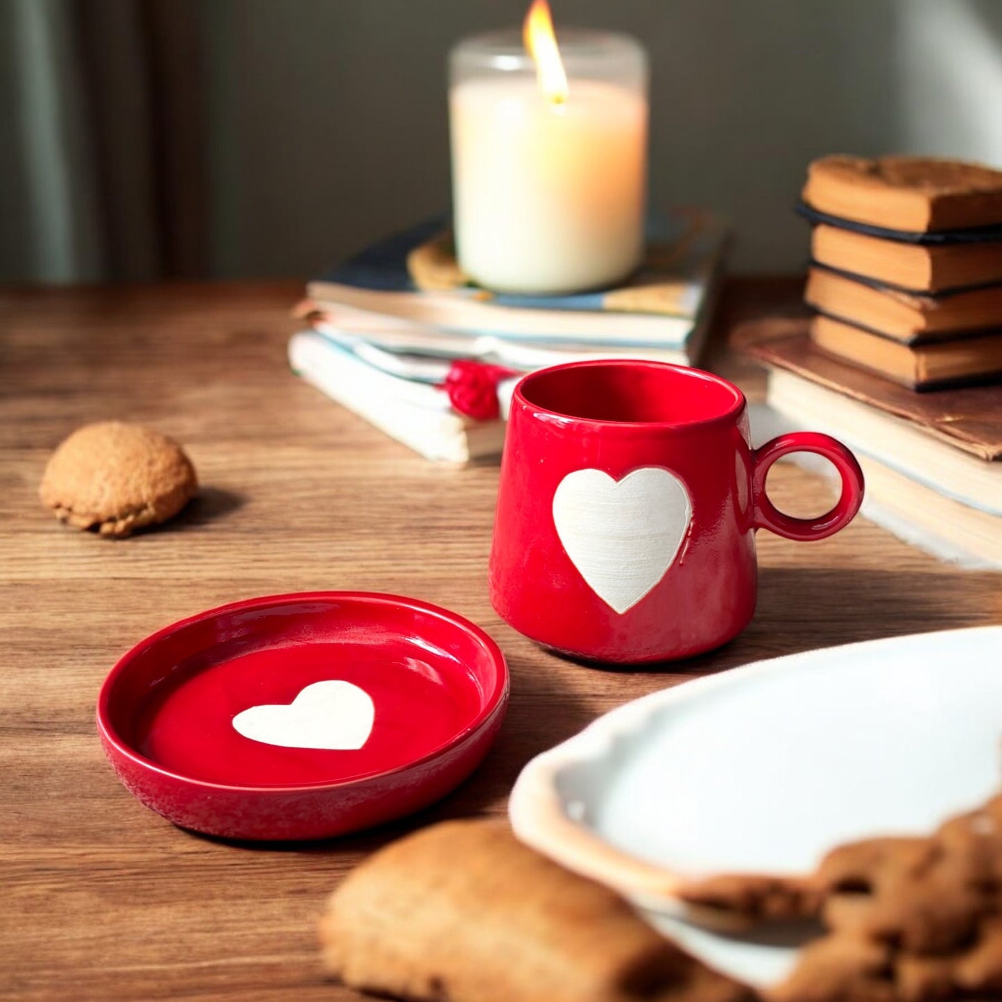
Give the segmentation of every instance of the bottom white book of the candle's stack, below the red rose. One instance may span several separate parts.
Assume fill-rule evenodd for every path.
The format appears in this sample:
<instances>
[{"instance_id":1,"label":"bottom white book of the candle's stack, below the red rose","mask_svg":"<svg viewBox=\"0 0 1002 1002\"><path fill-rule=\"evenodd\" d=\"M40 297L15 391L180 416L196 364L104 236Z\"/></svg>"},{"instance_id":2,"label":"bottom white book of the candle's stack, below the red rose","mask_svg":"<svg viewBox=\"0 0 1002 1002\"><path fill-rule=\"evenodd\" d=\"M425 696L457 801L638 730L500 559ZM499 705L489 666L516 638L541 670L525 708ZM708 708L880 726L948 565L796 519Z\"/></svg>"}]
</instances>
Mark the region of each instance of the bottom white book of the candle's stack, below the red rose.
<instances>
[{"instance_id":1,"label":"bottom white book of the candle's stack, below the red rose","mask_svg":"<svg viewBox=\"0 0 1002 1002\"><path fill-rule=\"evenodd\" d=\"M464 417L433 383L385 372L315 331L293 335L289 364L332 400L427 459L469 462L498 454L504 444L503 420Z\"/></svg>"}]
</instances>

